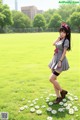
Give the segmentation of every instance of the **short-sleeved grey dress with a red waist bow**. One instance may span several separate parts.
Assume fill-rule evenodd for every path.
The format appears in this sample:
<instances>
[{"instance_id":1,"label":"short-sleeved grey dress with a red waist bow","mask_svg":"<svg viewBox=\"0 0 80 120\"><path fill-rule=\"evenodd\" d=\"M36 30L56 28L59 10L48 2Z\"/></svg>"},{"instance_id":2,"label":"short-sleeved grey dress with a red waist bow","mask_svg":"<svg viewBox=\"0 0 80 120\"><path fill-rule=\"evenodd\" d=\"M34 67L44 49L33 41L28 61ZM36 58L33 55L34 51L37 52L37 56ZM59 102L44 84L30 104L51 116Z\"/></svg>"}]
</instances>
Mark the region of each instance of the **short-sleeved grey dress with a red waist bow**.
<instances>
[{"instance_id":1,"label":"short-sleeved grey dress with a red waist bow","mask_svg":"<svg viewBox=\"0 0 80 120\"><path fill-rule=\"evenodd\" d=\"M64 59L61 62L61 67L58 67L58 62L62 56L63 50L64 48L68 48L69 47L69 40L66 39L64 42L64 46L62 46L64 39L58 41L55 43L56 46L56 51L53 55L52 60L50 61L50 63L48 64L49 68L52 70L52 72L54 71L58 71L58 72L62 72L62 71L66 71L70 68L67 57L64 56Z\"/></svg>"}]
</instances>

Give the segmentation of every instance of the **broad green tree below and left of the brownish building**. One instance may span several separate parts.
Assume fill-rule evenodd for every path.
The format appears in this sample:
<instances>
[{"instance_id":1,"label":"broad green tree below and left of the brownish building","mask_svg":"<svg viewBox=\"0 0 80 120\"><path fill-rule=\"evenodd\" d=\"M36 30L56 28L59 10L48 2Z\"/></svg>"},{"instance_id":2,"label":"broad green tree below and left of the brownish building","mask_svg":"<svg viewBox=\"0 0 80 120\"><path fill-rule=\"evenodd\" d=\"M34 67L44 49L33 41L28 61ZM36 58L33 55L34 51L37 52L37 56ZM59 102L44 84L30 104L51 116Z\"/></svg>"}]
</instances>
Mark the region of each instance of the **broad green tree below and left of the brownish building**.
<instances>
[{"instance_id":1,"label":"broad green tree below and left of the brownish building","mask_svg":"<svg viewBox=\"0 0 80 120\"><path fill-rule=\"evenodd\" d=\"M20 11L12 11L13 27L14 28L29 28L31 27L31 20L27 15Z\"/></svg>"}]
</instances>

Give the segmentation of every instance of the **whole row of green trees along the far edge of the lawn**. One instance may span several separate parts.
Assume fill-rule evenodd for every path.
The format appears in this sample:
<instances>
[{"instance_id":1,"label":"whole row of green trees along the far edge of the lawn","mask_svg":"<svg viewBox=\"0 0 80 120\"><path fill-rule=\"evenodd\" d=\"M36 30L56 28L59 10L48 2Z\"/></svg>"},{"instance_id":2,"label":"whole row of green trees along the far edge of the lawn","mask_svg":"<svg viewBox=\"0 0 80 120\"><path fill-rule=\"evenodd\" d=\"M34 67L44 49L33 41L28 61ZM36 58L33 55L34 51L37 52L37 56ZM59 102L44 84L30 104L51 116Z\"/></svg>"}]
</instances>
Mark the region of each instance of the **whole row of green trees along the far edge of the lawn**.
<instances>
[{"instance_id":1,"label":"whole row of green trees along the far edge of the lawn","mask_svg":"<svg viewBox=\"0 0 80 120\"><path fill-rule=\"evenodd\" d=\"M62 21L71 26L73 32L80 32L80 5L62 4L58 9L49 9L35 15L31 20L20 11L11 11L0 2L0 32L57 31Z\"/></svg>"}]
</instances>

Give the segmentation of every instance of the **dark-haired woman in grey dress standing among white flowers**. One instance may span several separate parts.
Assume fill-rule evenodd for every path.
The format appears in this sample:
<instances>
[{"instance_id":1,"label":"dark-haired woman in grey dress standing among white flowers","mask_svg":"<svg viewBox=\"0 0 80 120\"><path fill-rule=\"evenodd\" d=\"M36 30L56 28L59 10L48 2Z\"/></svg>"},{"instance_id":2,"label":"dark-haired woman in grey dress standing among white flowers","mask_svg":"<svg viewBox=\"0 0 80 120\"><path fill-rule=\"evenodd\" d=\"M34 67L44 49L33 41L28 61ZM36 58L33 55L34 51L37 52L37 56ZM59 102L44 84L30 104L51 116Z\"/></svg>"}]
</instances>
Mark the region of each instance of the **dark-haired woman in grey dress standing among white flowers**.
<instances>
[{"instance_id":1,"label":"dark-haired woman in grey dress standing among white flowers","mask_svg":"<svg viewBox=\"0 0 80 120\"><path fill-rule=\"evenodd\" d=\"M59 103L65 98L68 91L63 90L57 81L57 76L61 72L69 69L69 63L66 58L66 52L71 49L71 30L66 23L62 23L59 29L60 37L53 43L56 47L52 61L49 63L49 68L52 71L50 82L53 84L57 98L54 103Z\"/></svg>"}]
</instances>

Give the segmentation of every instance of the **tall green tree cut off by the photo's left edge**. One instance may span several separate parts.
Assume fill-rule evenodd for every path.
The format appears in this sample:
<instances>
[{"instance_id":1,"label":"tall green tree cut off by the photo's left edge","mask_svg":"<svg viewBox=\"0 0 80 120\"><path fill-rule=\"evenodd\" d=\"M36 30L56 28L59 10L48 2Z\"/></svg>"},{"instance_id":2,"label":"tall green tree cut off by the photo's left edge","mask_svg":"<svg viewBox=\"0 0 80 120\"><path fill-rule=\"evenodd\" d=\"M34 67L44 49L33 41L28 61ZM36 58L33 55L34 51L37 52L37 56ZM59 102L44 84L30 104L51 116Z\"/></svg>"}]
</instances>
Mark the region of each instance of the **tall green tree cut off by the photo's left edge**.
<instances>
[{"instance_id":1,"label":"tall green tree cut off by the photo's left edge","mask_svg":"<svg viewBox=\"0 0 80 120\"><path fill-rule=\"evenodd\" d=\"M0 32L3 32L4 27L12 24L12 15L7 5L0 4Z\"/></svg>"}]
</instances>

